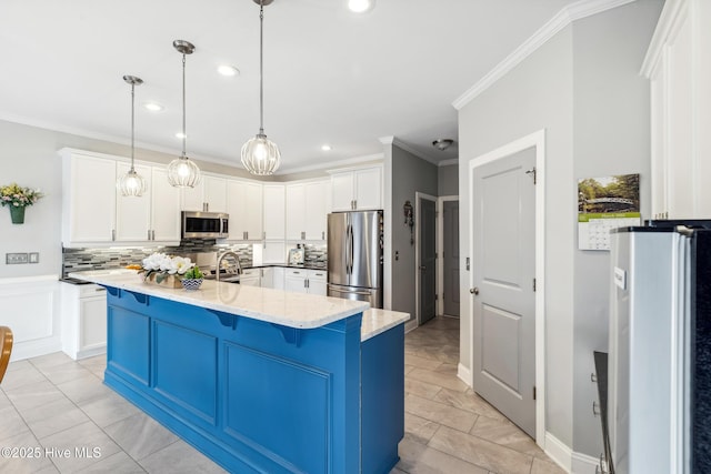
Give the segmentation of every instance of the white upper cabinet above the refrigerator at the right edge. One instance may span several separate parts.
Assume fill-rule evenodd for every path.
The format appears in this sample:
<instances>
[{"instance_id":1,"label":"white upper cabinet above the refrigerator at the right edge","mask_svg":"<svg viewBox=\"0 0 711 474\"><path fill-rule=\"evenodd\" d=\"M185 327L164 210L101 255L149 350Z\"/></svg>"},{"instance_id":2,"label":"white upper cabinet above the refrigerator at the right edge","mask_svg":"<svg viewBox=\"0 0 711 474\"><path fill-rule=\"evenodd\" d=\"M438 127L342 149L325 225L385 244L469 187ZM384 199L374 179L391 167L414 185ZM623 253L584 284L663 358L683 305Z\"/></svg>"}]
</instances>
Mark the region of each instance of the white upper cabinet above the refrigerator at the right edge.
<instances>
[{"instance_id":1,"label":"white upper cabinet above the refrigerator at the right edge","mask_svg":"<svg viewBox=\"0 0 711 474\"><path fill-rule=\"evenodd\" d=\"M642 73L651 92L652 219L711 216L711 2L668 1Z\"/></svg>"}]
</instances>

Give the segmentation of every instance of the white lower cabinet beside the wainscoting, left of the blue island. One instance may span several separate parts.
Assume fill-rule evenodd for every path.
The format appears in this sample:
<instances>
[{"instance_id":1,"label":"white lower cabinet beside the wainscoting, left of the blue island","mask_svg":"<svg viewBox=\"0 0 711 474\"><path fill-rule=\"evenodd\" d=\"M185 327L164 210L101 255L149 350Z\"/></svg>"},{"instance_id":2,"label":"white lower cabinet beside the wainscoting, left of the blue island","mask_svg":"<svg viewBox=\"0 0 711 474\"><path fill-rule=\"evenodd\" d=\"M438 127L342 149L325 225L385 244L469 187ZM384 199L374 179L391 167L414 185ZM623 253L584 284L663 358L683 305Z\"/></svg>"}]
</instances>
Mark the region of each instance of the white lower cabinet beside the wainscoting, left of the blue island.
<instances>
[{"instance_id":1,"label":"white lower cabinet beside the wainscoting, left of the blue island","mask_svg":"<svg viewBox=\"0 0 711 474\"><path fill-rule=\"evenodd\" d=\"M107 292L96 284L62 283L62 351L78 360L107 351Z\"/></svg>"}]
</instances>

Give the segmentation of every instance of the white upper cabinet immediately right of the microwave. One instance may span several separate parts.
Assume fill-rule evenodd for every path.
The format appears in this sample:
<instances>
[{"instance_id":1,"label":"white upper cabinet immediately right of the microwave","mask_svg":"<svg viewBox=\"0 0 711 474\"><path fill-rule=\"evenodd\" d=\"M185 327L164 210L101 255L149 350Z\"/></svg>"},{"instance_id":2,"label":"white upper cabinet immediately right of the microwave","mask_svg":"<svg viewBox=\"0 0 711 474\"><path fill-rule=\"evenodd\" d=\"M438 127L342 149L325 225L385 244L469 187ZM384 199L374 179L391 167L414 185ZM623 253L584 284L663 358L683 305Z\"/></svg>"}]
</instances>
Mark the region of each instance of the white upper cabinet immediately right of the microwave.
<instances>
[{"instance_id":1,"label":"white upper cabinet immediately right of the microwave","mask_svg":"<svg viewBox=\"0 0 711 474\"><path fill-rule=\"evenodd\" d=\"M262 240L261 183L228 180L227 212L230 240Z\"/></svg>"}]
</instances>

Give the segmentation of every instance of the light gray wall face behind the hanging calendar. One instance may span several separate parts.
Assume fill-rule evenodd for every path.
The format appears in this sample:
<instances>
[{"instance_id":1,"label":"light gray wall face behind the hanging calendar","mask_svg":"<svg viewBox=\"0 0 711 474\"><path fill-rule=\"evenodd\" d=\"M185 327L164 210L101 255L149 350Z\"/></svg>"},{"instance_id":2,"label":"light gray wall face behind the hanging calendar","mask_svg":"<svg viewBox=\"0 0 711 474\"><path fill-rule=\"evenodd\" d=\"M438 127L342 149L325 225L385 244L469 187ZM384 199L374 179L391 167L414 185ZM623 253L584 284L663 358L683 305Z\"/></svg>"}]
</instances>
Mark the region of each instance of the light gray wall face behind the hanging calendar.
<instances>
[{"instance_id":1,"label":"light gray wall face behind the hanging calendar","mask_svg":"<svg viewBox=\"0 0 711 474\"><path fill-rule=\"evenodd\" d=\"M649 81L639 74L661 0L634 2L573 27L573 178L640 173L642 215L650 212ZM614 54L610 52L614 51ZM608 349L610 252L573 256L573 450L602 451L592 351Z\"/></svg>"}]
</instances>

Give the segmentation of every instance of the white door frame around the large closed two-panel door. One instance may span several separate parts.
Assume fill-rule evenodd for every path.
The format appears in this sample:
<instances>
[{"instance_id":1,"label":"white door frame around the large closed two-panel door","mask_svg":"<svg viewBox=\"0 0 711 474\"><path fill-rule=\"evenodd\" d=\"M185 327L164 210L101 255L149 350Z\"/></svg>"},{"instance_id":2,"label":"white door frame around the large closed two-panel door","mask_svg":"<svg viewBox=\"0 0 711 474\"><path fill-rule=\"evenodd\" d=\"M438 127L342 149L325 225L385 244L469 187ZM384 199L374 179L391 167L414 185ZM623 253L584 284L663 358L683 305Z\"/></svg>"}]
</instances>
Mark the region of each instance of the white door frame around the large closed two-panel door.
<instances>
[{"instance_id":1,"label":"white door frame around the large closed two-panel door","mask_svg":"<svg viewBox=\"0 0 711 474\"><path fill-rule=\"evenodd\" d=\"M539 130L529 135L514 140L495 150L484 153L469 161L469 202L474 199L473 170L474 168L509 157L519 151L535 148L535 443L545 448L545 130ZM472 222L473 214L470 209L469 221ZM474 240L470 232L469 254L474 254ZM475 265L477 262L472 262ZM464 268L462 265L462 268ZM465 270L464 270L465 271ZM461 281L469 281L470 292L473 292L473 272L468 272ZM472 294L469 295L473 297ZM470 326L473 326L473 304L470 305ZM470 351L469 360L469 383L474 384L474 334L469 334Z\"/></svg>"}]
</instances>

